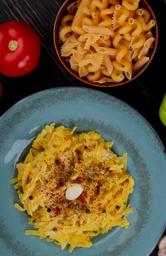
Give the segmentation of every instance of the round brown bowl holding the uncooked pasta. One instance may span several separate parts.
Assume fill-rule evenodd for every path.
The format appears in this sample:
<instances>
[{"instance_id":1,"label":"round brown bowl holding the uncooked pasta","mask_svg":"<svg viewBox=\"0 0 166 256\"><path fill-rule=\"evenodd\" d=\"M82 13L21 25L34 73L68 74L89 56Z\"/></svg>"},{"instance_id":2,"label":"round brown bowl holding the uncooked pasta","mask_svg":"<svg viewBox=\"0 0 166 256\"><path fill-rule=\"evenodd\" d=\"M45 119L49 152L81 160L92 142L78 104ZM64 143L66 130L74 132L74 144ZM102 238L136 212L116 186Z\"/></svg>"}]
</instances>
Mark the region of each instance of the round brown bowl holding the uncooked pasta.
<instances>
[{"instance_id":1,"label":"round brown bowl holding the uncooked pasta","mask_svg":"<svg viewBox=\"0 0 166 256\"><path fill-rule=\"evenodd\" d=\"M87 78L85 78L85 77L80 77L77 72L75 72L74 70L71 69L70 63L68 63L66 61L66 58L61 56L61 46L62 46L62 44L59 43L59 28L60 28L61 18L63 18L63 16L66 15L67 7L72 2L75 2L75 0L66 0L63 3L63 5L61 6L61 8L59 9L57 17L55 19L55 25L54 25L54 31L53 31L54 44L55 44L55 49L56 49L57 55L59 57L59 60L63 64L63 66L66 68L66 70L70 74L72 74L76 79L79 79L83 83L86 83L86 84L89 84L89 85L98 86L98 87L111 87L111 86L118 86L118 85L122 85L122 84L128 83L128 82L132 81L133 79L135 79L136 77L138 77L140 74L142 74L142 72L144 72L144 70L146 70L146 68L149 66L149 64L153 60L153 57L154 57L156 49L157 49L157 43L158 43L157 20L155 18L155 14L154 14L153 10L151 9L149 3L146 0L140 0L139 6L143 7L146 10L148 10L149 13L150 13L151 19L155 20L155 26L151 29L153 37L155 38L155 41L153 42L153 48L150 49L150 51L149 51L149 56L148 57L150 59L142 68L140 68L140 70L138 70L137 72L135 72L133 74L131 80L129 80L129 79L127 79L125 77L124 80L121 81L121 82L111 82L111 83L94 83L92 81L87 80Z\"/></svg>"}]
</instances>

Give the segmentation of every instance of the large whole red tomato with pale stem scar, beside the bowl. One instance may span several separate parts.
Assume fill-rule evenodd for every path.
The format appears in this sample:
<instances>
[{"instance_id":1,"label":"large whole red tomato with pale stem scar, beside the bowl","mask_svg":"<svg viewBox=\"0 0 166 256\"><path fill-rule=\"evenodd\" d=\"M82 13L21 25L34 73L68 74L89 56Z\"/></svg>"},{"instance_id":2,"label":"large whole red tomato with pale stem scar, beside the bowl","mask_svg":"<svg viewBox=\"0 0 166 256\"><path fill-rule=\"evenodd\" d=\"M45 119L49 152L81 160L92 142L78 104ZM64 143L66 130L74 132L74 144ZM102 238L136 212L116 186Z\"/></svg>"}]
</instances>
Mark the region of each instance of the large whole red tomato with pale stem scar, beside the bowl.
<instances>
[{"instance_id":1,"label":"large whole red tomato with pale stem scar, beside the bowl","mask_svg":"<svg viewBox=\"0 0 166 256\"><path fill-rule=\"evenodd\" d=\"M35 69L40 56L37 31L23 21L13 20L0 25L0 73L23 76Z\"/></svg>"}]
</instances>

